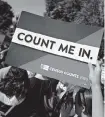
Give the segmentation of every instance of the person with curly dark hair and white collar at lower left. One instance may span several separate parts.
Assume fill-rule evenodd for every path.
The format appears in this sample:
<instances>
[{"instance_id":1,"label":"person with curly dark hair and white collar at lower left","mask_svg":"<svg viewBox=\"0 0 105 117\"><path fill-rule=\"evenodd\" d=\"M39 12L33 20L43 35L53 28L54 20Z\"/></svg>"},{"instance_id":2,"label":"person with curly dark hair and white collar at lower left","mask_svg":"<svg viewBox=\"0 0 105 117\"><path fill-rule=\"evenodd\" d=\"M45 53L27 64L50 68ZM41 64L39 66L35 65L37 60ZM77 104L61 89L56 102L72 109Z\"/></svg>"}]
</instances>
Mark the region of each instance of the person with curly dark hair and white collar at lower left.
<instances>
[{"instance_id":1,"label":"person with curly dark hair and white collar at lower left","mask_svg":"<svg viewBox=\"0 0 105 117\"><path fill-rule=\"evenodd\" d=\"M0 111L8 113L11 108L13 109L13 107L22 103L26 98L28 89L29 79L25 70L10 66L1 69Z\"/></svg>"}]
</instances>

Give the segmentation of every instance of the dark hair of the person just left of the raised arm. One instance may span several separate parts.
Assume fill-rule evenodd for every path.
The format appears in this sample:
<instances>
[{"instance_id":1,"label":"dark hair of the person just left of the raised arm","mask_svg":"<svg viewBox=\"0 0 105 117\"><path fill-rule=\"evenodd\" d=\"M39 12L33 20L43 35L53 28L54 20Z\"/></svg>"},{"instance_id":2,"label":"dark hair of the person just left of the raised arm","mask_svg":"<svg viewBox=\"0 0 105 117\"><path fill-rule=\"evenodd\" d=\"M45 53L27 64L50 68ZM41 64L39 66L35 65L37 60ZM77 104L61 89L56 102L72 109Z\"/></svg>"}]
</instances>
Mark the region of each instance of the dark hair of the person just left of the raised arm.
<instances>
[{"instance_id":1,"label":"dark hair of the person just left of the raised arm","mask_svg":"<svg viewBox=\"0 0 105 117\"><path fill-rule=\"evenodd\" d=\"M76 94L76 104L84 110L84 114L91 117L92 116L92 91L91 89L80 90Z\"/></svg>"}]
</instances>

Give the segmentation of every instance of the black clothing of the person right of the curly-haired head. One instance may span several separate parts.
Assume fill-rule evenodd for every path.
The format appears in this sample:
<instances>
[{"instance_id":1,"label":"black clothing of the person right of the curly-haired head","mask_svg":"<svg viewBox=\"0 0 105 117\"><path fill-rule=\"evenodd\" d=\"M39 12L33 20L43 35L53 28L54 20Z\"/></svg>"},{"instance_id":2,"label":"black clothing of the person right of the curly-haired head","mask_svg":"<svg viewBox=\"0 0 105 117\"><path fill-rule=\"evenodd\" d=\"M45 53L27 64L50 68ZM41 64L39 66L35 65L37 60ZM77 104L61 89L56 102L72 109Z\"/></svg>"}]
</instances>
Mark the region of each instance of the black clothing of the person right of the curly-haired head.
<instances>
[{"instance_id":1,"label":"black clothing of the person right of the curly-haired head","mask_svg":"<svg viewBox=\"0 0 105 117\"><path fill-rule=\"evenodd\" d=\"M49 114L44 107L44 96L50 97L50 80L32 78L27 97L20 105L16 106L6 117L48 117ZM32 116L31 116L32 115Z\"/></svg>"}]
</instances>

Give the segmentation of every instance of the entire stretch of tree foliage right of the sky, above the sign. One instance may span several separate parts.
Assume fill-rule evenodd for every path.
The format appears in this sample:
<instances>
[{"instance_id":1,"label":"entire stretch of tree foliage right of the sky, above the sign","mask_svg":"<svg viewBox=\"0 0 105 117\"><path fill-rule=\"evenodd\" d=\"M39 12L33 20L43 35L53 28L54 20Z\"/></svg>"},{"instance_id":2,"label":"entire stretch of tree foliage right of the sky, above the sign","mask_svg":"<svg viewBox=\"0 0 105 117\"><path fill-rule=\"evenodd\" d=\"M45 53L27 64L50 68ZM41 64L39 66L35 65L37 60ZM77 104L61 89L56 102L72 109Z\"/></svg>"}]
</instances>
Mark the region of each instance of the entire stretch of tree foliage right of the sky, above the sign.
<instances>
[{"instance_id":1,"label":"entire stretch of tree foliage right of the sky, above the sign","mask_svg":"<svg viewBox=\"0 0 105 117\"><path fill-rule=\"evenodd\" d=\"M46 13L52 19L104 26L103 0L46 0Z\"/></svg>"}]
</instances>

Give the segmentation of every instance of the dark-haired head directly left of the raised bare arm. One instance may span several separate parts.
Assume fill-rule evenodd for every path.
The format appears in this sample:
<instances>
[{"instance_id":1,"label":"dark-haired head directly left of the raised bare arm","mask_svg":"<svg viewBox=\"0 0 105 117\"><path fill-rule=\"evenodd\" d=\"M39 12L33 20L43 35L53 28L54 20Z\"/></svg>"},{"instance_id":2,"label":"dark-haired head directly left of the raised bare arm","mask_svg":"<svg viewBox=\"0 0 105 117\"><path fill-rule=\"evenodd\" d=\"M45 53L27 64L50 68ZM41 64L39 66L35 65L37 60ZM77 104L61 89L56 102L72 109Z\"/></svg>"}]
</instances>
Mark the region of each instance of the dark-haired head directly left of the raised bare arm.
<instances>
[{"instance_id":1,"label":"dark-haired head directly left of the raised bare arm","mask_svg":"<svg viewBox=\"0 0 105 117\"><path fill-rule=\"evenodd\" d=\"M76 113L81 117L92 117L92 91L80 90L76 95Z\"/></svg>"}]
</instances>

